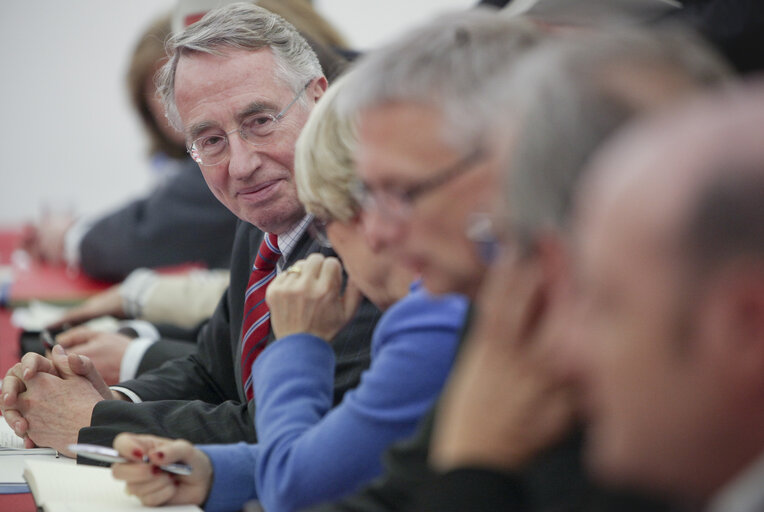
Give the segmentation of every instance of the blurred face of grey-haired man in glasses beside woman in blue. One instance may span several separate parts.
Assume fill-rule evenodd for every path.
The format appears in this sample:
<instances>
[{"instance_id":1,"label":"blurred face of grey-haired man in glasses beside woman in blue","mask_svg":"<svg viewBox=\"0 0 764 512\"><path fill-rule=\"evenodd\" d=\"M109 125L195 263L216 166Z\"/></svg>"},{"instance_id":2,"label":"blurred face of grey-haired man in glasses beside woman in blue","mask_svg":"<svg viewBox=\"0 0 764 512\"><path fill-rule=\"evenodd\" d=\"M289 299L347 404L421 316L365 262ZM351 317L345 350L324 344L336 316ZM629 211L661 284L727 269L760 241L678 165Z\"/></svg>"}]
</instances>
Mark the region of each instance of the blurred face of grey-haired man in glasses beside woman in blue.
<instances>
[{"instance_id":1,"label":"blurred face of grey-haired man in glasses beside woman in blue","mask_svg":"<svg viewBox=\"0 0 764 512\"><path fill-rule=\"evenodd\" d=\"M443 141L443 117L430 107L392 103L364 110L358 172L372 193L409 190L457 164L465 153ZM496 193L491 156L419 195L404 215L371 208L364 228L372 248L386 248L421 275L433 293L474 295L485 267L466 231L471 214L486 212Z\"/></svg>"}]
</instances>

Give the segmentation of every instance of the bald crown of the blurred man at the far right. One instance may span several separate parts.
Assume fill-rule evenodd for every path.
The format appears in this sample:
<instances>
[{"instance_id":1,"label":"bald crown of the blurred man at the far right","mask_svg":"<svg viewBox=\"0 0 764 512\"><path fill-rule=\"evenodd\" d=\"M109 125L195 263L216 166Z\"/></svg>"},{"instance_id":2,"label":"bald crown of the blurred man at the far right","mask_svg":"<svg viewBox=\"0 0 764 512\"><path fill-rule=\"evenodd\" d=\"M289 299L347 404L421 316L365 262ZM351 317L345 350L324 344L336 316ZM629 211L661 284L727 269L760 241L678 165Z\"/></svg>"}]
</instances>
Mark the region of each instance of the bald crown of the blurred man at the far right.
<instances>
[{"instance_id":1,"label":"bald crown of the blurred man at the far right","mask_svg":"<svg viewBox=\"0 0 764 512\"><path fill-rule=\"evenodd\" d=\"M762 127L761 85L647 120L600 152L587 202L595 203L598 216L621 209L645 222L652 219L656 229L697 258L744 247L762 256L761 246L754 249L764 244ZM736 226L743 223L736 220L741 216L750 218ZM725 250L725 243L734 247Z\"/></svg>"}]
</instances>

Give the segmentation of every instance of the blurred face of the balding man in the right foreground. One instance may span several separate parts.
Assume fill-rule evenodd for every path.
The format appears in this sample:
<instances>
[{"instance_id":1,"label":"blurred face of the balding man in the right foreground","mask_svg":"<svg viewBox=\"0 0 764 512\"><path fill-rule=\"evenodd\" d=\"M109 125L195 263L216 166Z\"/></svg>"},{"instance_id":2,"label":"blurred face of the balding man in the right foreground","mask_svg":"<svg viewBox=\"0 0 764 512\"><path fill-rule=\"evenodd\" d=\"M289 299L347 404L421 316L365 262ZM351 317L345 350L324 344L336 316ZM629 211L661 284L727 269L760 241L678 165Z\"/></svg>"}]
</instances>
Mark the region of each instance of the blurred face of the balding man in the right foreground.
<instances>
[{"instance_id":1,"label":"blurred face of the balding man in the right foreground","mask_svg":"<svg viewBox=\"0 0 764 512\"><path fill-rule=\"evenodd\" d=\"M571 357L595 474L682 492L688 480L704 478L709 461L699 454L719 433L710 425L725 398L713 357L689 323L695 299L682 293L686 282L661 195L611 187L585 205L575 269L581 309L571 329L577 341Z\"/></svg>"}]
</instances>

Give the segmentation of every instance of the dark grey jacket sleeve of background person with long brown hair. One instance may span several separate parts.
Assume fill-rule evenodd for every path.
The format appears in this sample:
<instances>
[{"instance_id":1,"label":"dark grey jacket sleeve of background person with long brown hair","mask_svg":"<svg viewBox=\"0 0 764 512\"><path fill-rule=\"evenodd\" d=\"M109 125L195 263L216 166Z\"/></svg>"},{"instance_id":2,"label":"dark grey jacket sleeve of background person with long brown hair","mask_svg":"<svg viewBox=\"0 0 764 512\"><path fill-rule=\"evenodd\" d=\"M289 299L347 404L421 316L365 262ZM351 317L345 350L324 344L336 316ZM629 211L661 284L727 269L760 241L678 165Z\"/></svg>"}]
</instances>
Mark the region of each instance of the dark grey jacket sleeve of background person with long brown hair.
<instances>
[{"instance_id":1,"label":"dark grey jacket sleeve of background person with long brown hair","mask_svg":"<svg viewBox=\"0 0 764 512\"><path fill-rule=\"evenodd\" d=\"M189 158L148 196L101 217L80 242L80 267L107 281L121 281L139 267L197 262L228 268L236 222Z\"/></svg>"}]
</instances>

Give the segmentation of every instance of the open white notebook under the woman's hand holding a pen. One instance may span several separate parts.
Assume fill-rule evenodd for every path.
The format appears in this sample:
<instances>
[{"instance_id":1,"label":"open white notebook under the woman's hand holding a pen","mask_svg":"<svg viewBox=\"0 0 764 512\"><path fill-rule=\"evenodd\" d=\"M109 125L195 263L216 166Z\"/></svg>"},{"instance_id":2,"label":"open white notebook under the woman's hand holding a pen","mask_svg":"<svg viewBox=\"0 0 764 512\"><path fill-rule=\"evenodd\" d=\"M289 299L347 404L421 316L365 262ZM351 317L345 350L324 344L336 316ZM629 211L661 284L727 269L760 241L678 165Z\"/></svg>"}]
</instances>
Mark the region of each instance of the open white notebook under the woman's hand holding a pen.
<instances>
[{"instance_id":1,"label":"open white notebook under the woman's hand holding a pen","mask_svg":"<svg viewBox=\"0 0 764 512\"><path fill-rule=\"evenodd\" d=\"M28 459L24 478L34 501L44 512L129 512L161 510L200 512L195 505L144 507L135 496L125 493L125 483L111 476L111 469L97 466L66 466Z\"/></svg>"}]
</instances>

